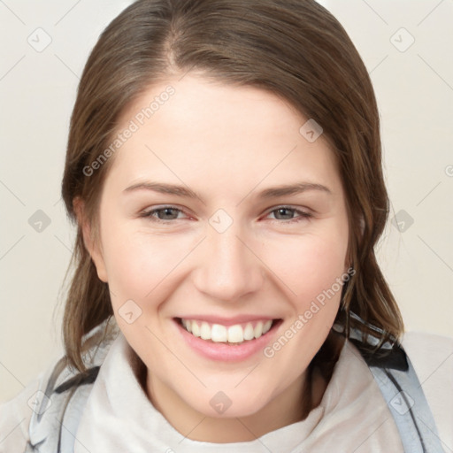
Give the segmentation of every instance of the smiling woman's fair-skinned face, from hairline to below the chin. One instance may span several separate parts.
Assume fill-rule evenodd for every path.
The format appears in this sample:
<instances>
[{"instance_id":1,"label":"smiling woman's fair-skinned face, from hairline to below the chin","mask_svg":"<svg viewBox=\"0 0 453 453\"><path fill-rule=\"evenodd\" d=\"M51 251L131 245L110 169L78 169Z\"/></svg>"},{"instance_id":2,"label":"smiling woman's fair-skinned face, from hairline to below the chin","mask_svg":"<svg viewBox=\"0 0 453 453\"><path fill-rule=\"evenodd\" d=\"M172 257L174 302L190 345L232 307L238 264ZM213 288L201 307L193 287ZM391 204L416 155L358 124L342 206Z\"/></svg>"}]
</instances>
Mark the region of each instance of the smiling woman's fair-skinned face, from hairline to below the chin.
<instances>
[{"instance_id":1,"label":"smiling woman's fair-skinned face, from hairline to below the chin","mask_svg":"<svg viewBox=\"0 0 453 453\"><path fill-rule=\"evenodd\" d=\"M191 73L122 115L91 251L164 412L240 417L300 395L349 267L342 182L307 120Z\"/></svg>"}]
</instances>

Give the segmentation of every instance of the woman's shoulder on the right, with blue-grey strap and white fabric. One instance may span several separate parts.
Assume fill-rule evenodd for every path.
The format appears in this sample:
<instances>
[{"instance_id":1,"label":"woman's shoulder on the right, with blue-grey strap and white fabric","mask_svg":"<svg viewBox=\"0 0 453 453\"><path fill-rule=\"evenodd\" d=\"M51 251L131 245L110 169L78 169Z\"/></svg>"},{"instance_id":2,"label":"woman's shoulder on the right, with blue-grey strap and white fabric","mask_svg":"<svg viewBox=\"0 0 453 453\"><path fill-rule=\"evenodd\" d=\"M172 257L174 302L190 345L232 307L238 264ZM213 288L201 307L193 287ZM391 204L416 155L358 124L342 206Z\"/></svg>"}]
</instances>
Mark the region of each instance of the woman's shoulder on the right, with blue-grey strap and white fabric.
<instances>
[{"instance_id":1,"label":"woman's shoulder on the right, with blue-grey strap and white fabric","mask_svg":"<svg viewBox=\"0 0 453 453\"><path fill-rule=\"evenodd\" d=\"M378 382L400 433L409 433L409 441L431 442L434 451L441 451L441 445L453 450L453 339L406 332L399 341L373 349L377 336L364 337L353 329L349 341Z\"/></svg>"}]
</instances>

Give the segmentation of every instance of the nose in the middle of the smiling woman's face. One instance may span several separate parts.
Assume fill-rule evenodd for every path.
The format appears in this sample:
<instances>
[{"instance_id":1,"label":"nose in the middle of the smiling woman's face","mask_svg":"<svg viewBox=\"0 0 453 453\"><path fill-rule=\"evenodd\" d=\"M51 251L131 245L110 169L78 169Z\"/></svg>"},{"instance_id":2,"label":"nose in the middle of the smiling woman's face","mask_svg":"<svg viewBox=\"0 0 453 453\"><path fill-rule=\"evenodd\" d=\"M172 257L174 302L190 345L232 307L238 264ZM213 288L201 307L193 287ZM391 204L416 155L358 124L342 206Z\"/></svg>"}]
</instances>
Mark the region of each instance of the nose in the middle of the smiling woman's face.
<instances>
[{"instance_id":1,"label":"nose in the middle of the smiling woman's face","mask_svg":"<svg viewBox=\"0 0 453 453\"><path fill-rule=\"evenodd\" d=\"M265 280L265 269L253 249L234 224L223 233L209 226L193 273L196 288L224 302L237 302L256 292Z\"/></svg>"}]
</instances>

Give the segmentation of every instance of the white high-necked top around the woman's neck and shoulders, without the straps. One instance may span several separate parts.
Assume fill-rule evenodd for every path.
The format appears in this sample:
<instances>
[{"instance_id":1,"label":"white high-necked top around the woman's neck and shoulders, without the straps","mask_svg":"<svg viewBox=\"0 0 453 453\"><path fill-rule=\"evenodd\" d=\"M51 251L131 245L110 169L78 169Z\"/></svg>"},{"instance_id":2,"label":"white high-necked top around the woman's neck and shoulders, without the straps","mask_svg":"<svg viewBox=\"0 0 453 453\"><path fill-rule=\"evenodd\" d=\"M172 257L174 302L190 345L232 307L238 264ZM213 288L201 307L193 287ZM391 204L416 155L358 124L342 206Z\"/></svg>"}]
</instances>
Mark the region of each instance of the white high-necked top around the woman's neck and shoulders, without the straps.
<instances>
[{"instance_id":1,"label":"white high-necked top around the woman's neck and shoulders, without the straps","mask_svg":"<svg viewBox=\"0 0 453 453\"><path fill-rule=\"evenodd\" d=\"M405 334L403 347L433 411L442 447L453 451L453 341L437 335ZM143 392L134 374L133 358L134 351L119 334L75 428L74 453L403 452L380 389L349 341L344 343L321 403L307 418L255 441L233 443L192 441L180 434ZM42 384L42 376L0 405L0 452L26 451L31 415L27 400ZM69 451L63 445L62 452Z\"/></svg>"}]
</instances>

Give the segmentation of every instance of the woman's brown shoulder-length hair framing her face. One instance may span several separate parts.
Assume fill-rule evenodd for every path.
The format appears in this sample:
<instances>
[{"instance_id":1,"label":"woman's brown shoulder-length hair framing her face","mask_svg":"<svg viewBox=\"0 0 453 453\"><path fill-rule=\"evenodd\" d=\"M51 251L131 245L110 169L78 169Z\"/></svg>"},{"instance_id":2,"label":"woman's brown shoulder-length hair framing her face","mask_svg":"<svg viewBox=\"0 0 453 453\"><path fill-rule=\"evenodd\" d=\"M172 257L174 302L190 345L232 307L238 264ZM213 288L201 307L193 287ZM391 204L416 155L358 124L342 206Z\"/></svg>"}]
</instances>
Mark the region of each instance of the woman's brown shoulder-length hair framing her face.
<instances>
[{"instance_id":1,"label":"woman's brown shoulder-length hair framing her face","mask_svg":"<svg viewBox=\"0 0 453 453\"><path fill-rule=\"evenodd\" d=\"M84 168L109 146L121 113L145 89L191 70L269 90L321 125L342 177L355 269L342 288L336 322L348 336L350 326L367 334L371 325L380 329L381 342L397 339L403 321L374 253L388 218L388 193L372 82L342 25L314 0L138 0L121 12L81 76L62 181L69 217L77 222L73 201L80 197L97 238L99 198L113 158L89 176ZM71 265L63 335L69 363L84 371L83 335L112 309L80 224Z\"/></svg>"}]
</instances>

